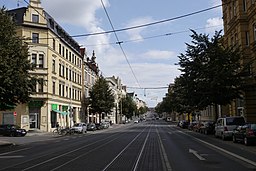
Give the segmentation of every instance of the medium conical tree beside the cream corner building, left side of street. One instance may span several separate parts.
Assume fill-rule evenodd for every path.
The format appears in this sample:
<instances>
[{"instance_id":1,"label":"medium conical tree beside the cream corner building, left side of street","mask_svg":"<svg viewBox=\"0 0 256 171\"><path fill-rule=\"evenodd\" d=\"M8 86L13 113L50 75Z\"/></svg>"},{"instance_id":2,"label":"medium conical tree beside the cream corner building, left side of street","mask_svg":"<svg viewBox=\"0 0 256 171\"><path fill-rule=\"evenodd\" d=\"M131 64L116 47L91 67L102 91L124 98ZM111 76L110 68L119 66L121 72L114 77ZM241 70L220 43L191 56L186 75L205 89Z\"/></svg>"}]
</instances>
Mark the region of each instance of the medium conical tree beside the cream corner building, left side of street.
<instances>
[{"instance_id":1,"label":"medium conical tree beside the cream corner building, left side of street","mask_svg":"<svg viewBox=\"0 0 256 171\"><path fill-rule=\"evenodd\" d=\"M93 112L99 113L100 115L105 112L109 113L113 109L114 96L111 89L103 76L95 82L92 90L89 91L90 94L90 104Z\"/></svg>"}]
</instances>

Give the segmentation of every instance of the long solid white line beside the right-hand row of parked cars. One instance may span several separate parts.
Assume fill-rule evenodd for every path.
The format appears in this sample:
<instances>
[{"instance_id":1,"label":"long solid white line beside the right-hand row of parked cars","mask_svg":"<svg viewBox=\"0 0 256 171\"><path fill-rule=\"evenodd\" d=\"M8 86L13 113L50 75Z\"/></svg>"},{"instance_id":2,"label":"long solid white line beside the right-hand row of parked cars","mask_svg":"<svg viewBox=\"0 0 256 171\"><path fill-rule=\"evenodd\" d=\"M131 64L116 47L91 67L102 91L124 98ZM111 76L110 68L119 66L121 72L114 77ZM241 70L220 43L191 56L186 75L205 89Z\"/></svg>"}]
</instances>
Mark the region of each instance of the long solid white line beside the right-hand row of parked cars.
<instances>
[{"instance_id":1,"label":"long solid white line beside the right-hand row of parked cars","mask_svg":"<svg viewBox=\"0 0 256 171\"><path fill-rule=\"evenodd\" d=\"M188 135L188 134L186 134L186 133L184 133L184 132L181 132L181 133L184 134L184 135L187 135L187 136L189 136L189 137L193 137L193 136ZM239 155L237 155L237 154L235 154L235 153L232 153L232 152L230 152L230 151L227 151L227 150L225 150L225 149L223 149L223 148L220 148L220 147L218 147L218 146L216 146L216 145L210 144L210 143L208 143L208 142L206 142L206 141L203 141L203 140L200 140L200 139L198 139L198 138L195 138L195 137L193 137L193 138L196 139L197 141L201 142L201 143L204 143L204 144L206 144L206 145L208 145L208 146L211 146L212 148L215 148L215 149L217 149L217 150L219 150L219 151L222 151L222 152L224 152L224 153L226 153L226 154L229 154L230 156L233 156L233 157L238 158L238 159L240 159L240 160L242 160L242 161L244 161L244 162L246 162L246 163L249 163L249 164L251 164L251 165L253 165L253 166L256 166L256 162L254 162L254 161L252 161L252 160L246 159L246 158L244 158L244 157L242 157L242 156L239 156Z\"/></svg>"}]
</instances>

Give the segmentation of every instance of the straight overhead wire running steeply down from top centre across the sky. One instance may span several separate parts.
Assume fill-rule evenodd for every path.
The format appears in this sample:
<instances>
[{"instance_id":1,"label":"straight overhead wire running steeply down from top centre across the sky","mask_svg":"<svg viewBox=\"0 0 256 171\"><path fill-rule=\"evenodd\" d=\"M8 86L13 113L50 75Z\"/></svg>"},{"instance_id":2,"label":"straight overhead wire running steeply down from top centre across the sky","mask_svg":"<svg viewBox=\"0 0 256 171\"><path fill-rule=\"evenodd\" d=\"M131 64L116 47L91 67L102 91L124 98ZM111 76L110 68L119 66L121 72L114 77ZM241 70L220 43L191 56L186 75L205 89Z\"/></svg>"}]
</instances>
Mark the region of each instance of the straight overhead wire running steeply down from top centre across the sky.
<instances>
[{"instance_id":1,"label":"straight overhead wire running steeply down from top centre across the sky","mask_svg":"<svg viewBox=\"0 0 256 171\"><path fill-rule=\"evenodd\" d=\"M106 15L107 15L108 21L109 21L109 23L110 23L110 25L111 25L111 27L112 27L112 30L113 30L113 32L114 32L114 34L115 34L115 37L116 37L116 40L117 40L117 44L119 45L119 47L120 47L120 49L121 49L121 51L122 51L122 53L123 53L123 55L124 55L124 57L125 57L125 60L126 60L127 64L129 65L130 70L132 71L133 77L135 78L135 80L136 80L138 86L141 87L141 86L140 86L140 83L139 83L139 81L138 81L138 79L137 79L137 77L136 77L136 75L135 75L135 73L134 73L134 71L133 71L133 68L132 68L132 66L131 66L131 64L130 64L130 62L129 62L129 60L128 60L128 58L127 58L125 52L124 52L124 49L123 49L123 47L122 47L122 45L121 45L122 42L120 42L119 39L118 39L118 36L117 36L117 34L116 34L116 32L115 32L115 28L114 28L114 26L113 26L113 24L112 24L112 22L111 22L111 19L110 19L109 15L108 15L107 9L105 8L105 5L104 5L104 3L103 3L102 0L101 0L101 4L102 4L102 6L103 6L103 8L104 8L104 11L105 11L105 13L106 13Z\"/></svg>"}]
</instances>

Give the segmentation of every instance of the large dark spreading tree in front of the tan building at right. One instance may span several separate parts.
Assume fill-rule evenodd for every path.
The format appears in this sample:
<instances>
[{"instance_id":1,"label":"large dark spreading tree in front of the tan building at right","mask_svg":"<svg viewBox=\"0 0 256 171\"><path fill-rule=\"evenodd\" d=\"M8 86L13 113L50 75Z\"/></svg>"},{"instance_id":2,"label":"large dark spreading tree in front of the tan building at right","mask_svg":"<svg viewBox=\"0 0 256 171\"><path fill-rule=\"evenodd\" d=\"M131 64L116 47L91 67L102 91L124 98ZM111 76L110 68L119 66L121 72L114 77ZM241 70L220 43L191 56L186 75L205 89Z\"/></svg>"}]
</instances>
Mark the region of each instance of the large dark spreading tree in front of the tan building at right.
<instances>
[{"instance_id":1,"label":"large dark spreading tree in front of the tan building at right","mask_svg":"<svg viewBox=\"0 0 256 171\"><path fill-rule=\"evenodd\" d=\"M182 74L175 84L176 93L190 109L208 105L227 105L241 98L241 53L225 48L221 31L208 35L193 31L192 44L179 56ZM216 112L217 114L217 112Z\"/></svg>"}]
</instances>

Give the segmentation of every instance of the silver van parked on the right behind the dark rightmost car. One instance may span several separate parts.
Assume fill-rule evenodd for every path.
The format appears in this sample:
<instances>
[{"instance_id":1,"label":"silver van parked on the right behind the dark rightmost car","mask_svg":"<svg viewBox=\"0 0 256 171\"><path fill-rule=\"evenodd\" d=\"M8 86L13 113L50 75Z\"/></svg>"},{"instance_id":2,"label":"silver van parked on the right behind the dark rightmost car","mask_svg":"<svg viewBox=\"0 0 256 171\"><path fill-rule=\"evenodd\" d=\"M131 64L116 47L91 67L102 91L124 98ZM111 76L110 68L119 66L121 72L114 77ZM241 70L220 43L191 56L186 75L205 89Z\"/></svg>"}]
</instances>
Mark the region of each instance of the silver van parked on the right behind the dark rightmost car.
<instances>
[{"instance_id":1,"label":"silver van parked on the right behind the dark rightmost car","mask_svg":"<svg viewBox=\"0 0 256 171\"><path fill-rule=\"evenodd\" d=\"M232 116L232 117L223 117L218 118L215 124L215 137L221 137L222 140L232 138L233 130L238 125L244 125L245 120L242 116Z\"/></svg>"}]
</instances>

